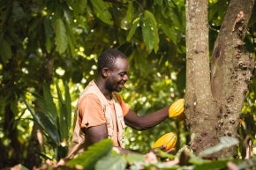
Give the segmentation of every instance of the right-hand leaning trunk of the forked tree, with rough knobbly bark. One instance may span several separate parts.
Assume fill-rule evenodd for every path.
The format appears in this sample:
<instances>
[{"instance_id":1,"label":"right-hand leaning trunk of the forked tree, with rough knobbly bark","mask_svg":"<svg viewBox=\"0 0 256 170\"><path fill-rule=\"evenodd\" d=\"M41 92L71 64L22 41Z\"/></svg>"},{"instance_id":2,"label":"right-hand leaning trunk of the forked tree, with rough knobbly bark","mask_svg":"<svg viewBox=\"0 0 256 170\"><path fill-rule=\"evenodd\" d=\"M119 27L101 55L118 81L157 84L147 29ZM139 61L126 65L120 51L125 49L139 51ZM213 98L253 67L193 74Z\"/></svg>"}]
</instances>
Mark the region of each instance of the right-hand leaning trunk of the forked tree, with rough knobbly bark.
<instances>
[{"instance_id":1,"label":"right-hand leaning trunk of the forked tree, with rough knobbly bark","mask_svg":"<svg viewBox=\"0 0 256 170\"><path fill-rule=\"evenodd\" d=\"M254 0L231 0L215 41L211 61L213 95L220 102L218 136L237 137L241 108L252 79L254 61L245 52L244 38L252 15ZM234 156L236 148L220 152L220 157Z\"/></svg>"}]
</instances>

